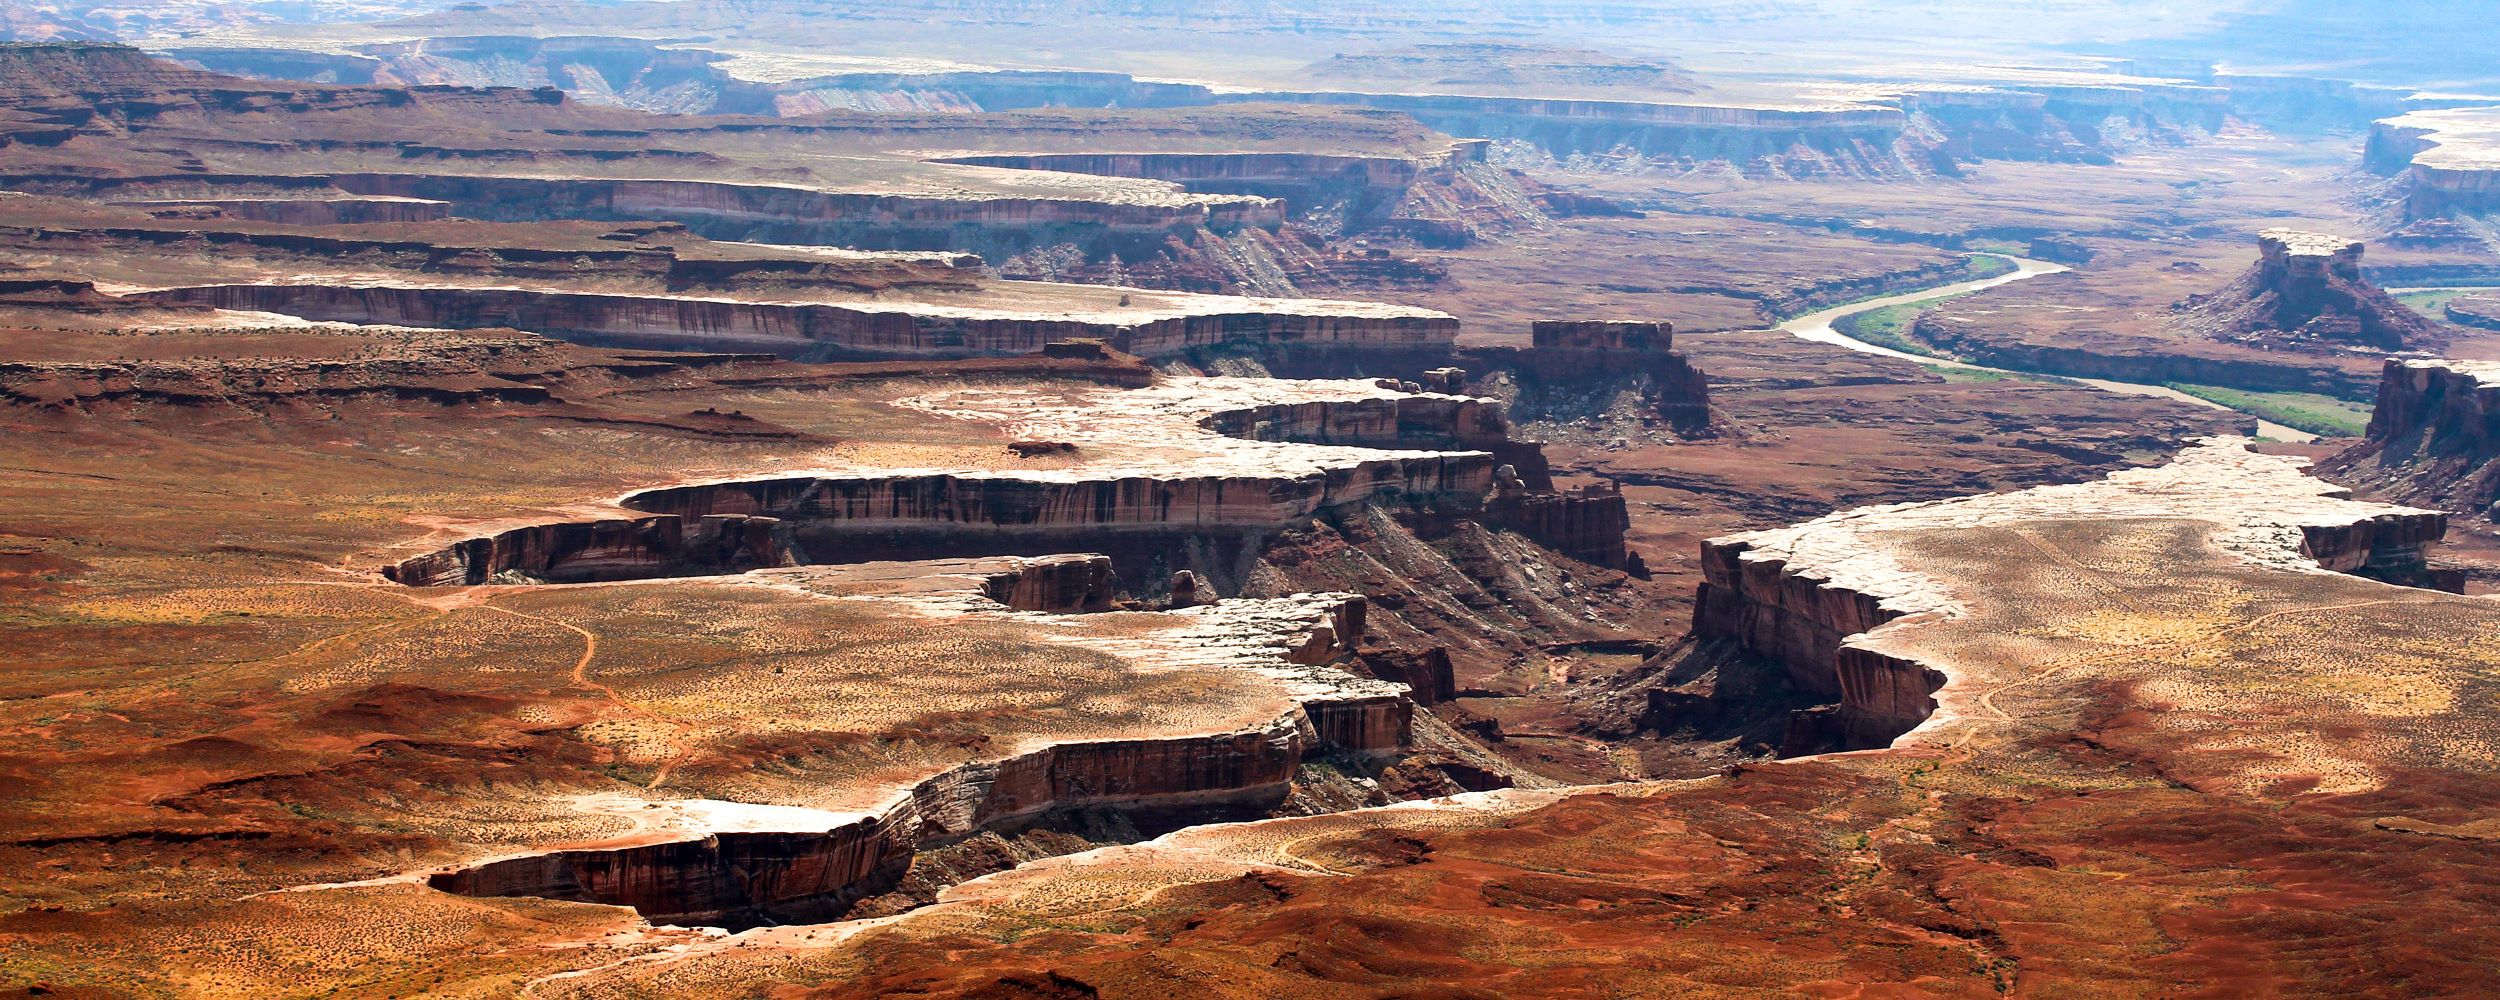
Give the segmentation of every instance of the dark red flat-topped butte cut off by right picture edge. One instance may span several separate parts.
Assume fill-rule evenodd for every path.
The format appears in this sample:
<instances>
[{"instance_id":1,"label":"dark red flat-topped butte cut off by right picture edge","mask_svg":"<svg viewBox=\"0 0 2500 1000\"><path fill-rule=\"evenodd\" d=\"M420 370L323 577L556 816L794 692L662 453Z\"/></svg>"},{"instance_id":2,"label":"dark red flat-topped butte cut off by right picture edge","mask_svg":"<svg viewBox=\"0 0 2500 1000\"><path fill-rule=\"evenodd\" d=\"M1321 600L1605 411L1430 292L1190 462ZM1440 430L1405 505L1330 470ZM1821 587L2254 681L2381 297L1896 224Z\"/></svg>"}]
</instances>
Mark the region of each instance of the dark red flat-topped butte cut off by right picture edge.
<instances>
[{"instance_id":1,"label":"dark red flat-topped butte cut off by right picture edge","mask_svg":"<svg viewBox=\"0 0 2500 1000\"><path fill-rule=\"evenodd\" d=\"M2368 438L2320 468L2390 500L2490 518L2500 500L2500 370L2390 358Z\"/></svg>"}]
</instances>

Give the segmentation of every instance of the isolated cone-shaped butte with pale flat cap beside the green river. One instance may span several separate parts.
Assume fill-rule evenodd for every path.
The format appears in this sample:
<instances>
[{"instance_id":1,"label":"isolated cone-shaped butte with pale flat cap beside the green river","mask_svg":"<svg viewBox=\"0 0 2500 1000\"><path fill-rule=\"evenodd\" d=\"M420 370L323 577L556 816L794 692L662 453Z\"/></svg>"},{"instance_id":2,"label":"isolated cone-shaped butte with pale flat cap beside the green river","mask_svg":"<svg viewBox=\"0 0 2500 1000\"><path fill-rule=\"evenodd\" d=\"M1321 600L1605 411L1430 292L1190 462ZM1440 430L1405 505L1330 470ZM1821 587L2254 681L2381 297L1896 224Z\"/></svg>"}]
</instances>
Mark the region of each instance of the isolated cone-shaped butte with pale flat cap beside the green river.
<instances>
[{"instance_id":1,"label":"isolated cone-shaped butte with pale flat cap beside the green river","mask_svg":"<svg viewBox=\"0 0 2500 1000\"><path fill-rule=\"evenodd\" d=\"M2360 272L2362 242L2325 232L2265 230L2258 265L2220 292L2172 305L2172 328L2205 340L2290 350L2415 350L2440 342L2438 322Z\"/></svg>"}]
</instances>

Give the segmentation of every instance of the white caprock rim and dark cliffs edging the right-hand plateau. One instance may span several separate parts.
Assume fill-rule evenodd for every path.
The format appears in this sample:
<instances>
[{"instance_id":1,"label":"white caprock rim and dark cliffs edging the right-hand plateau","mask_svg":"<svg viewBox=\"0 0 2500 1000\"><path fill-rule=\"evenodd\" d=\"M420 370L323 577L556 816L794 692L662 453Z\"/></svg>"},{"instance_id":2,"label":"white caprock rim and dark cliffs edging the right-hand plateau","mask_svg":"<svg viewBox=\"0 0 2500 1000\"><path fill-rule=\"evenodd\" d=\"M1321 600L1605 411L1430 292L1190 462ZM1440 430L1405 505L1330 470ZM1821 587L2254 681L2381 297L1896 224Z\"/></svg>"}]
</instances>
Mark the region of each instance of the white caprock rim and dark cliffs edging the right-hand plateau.
<instances>
[{"instance_id":1,"label":"white caprock rim and dark cliffs edging the right-hand plateau","mask_svg":"<svg viewBox=\"0 0 2500 1000\"><path fill-rule=\"evenodd\" d=\"M2222 548L2275 568L2312 572L2422 570L2448 515L2352 505L2348 492L2300 475L2298 462L2255 455L2238 438L2212 438L2172 465L2100 482L2038 488L1970 500L1860 508L1768 532L1702 542L1702 588L1692 632L1728 638L1782 662L1812 695L1835 698L1825 732L1842 748L1880 748L1928 722L1950 678L1882 640L1908 620L1960 615L1952 592L1908 570L1890 538L1938 528L2005 528L2090 512L2092 518L2208 518L2232 510ZM2040 542L2045 545L2045 542ZM2055 552L2048 552L2055 558Z\"/></svg>"}]
</instances>

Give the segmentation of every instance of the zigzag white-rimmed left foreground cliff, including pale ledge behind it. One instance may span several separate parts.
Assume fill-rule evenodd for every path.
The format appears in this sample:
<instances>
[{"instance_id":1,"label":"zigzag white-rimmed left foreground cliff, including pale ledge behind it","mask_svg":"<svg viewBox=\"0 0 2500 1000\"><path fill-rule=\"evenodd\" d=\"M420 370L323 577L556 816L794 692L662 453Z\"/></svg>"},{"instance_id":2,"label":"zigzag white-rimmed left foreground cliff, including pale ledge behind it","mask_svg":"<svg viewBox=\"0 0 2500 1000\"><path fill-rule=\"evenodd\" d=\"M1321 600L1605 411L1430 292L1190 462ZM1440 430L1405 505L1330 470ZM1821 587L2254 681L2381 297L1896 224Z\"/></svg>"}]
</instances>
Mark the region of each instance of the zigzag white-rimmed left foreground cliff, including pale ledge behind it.
<instances>
[{"instance_id":1,"label":"zigzag white-rimmed left foreground cliff, including pale ledge behind it","mask_svg":"<svg viewBox=\"0 0 2500 1000\"><path fill-rule=\"evenodd\" d=\"M1028 628L1032 642L1110 655L1150 675L1230 672L1268 690L1275 715L1250 725L1142 728L1140 738L1068 740L1028 730L918 782L860 780L825 805L588 795L588 815L632 832L555 845L425 875L460 895L535 895L630 905L652 922L750 928L838 918L892 890L915 850L982 830L1018 830L1075 810L1115 810L1138 828L1275 810L1305 755L1395 752L1408 740L1405 685L1330 662L1362 642L1362 598L1222 600L1172 612L1035 615L1000 605L1000 578L1095 568L1100 558L880 562L775 570L752 582L870 602L928 620ZM1102 568L1108 572L1108 568ZM1012 585L1010 585L1012 590ZM1242 710L1258 712L1258 702ZM1172 722L1180 722L1178 728Z\"/></svg>"}]
</instances>

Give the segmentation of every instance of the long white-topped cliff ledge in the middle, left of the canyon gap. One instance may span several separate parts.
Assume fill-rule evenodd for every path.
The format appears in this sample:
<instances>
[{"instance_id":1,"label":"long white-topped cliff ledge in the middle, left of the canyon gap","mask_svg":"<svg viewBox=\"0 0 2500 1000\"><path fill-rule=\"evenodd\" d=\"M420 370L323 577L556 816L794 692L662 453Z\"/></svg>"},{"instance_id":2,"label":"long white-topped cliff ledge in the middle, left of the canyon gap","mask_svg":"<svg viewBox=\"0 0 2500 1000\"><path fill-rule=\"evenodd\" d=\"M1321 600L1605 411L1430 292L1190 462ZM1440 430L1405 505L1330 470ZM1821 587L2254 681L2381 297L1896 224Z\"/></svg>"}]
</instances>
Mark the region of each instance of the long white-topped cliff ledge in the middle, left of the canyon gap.
<instances>
[{"instance_id":1,"label":"long white-topped cliff ledge in the middle, left of the canyon gap","mask_svg":"<svg viewBox=\"0 0 2500 1000\"><path fill-rule=\"evenodd\" d=\"M1250 535L1365 502L1472 512L1510 448L1498 402L1350 380L1162 378L898 400L1000 428L1062 468L825 465L642 490L615 518L508 528L405 558L408 585L628 580L912 555L1138 555L1132 580L1228 575ZM1532 445L1530 445L1532 450ZM1620 505L1620 498L1612 498ZM1110 535L1105 535L1110 532ZM1175 545L1185 542L1185 545ZM1188 548L1200 555L1190 558ZM1620 548L1620 532L1615 545ZM1178 552L1178 555L1172 555Z\"/></svg>"}]
</instances>

